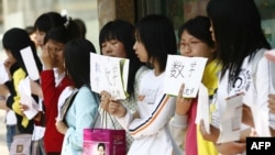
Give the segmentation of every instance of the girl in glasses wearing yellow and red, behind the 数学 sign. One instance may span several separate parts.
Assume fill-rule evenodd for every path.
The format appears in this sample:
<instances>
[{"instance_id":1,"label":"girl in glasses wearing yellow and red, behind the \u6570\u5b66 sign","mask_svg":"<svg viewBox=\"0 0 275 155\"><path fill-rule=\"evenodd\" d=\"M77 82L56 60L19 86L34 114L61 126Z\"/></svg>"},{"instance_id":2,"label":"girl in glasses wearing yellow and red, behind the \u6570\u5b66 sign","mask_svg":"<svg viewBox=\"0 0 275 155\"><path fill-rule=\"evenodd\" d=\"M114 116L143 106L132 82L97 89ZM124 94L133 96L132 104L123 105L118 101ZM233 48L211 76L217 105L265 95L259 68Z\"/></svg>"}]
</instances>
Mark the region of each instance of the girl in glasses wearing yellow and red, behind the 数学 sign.
<instances>
[{"instance_id":1,"label":"girl in glasses wearing yellow and red, behind the \u6570\u5b66 sign","mask_svg":"<svg viewBox=\"0 0 275 155\"><path fill-rule=\"evenodd\" d=\"M216 46L209 31L210 19L207 16L196 16L185 22L178 30L179 44L178 48L183 56L206 57L208 58L207 66L202 76L202 84L208 89L209 101L213 101L213 96L218 88L218 73L220 66L216 59ZM183 98L183 87L179 90L176 100L176 112L172 120L173 133L184 130L185 137L180 136L185 143L184 151L186 155L218 155L218 152L212 142L205 141L199 132L196 118L198 111L198 97L194 99ZM198 93L202 93L199 91ZM204 102L205 103L205 102ZM211 111L210 111L211 112Z\"/></svg>"}]
</instances>

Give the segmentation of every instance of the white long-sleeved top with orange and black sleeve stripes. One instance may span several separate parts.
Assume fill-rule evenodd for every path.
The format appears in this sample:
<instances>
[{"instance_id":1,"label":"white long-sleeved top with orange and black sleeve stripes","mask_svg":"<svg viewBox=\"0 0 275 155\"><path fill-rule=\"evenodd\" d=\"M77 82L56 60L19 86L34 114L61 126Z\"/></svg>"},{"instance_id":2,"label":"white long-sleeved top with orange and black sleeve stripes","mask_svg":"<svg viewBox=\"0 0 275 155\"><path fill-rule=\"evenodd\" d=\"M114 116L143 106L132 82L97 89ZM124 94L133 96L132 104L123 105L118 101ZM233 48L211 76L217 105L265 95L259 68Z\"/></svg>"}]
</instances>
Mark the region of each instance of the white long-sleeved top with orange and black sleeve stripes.
<instances>
[{"instance_id":1,"label":"white long-sleeved top with orange and black sleeve stripes","mask_svg":"<svg viewBox=\"0 0 275 155\"><path fill-rule=\"evenodd\" d=\"M138 110L140 119L133 119L128 110L124 118L117 118L134 141L128 155L182 154L170 135L168 122L175 113L175 97L163 92L165 74L148 70L141 78Z\"/></svg>"}]
</instances>

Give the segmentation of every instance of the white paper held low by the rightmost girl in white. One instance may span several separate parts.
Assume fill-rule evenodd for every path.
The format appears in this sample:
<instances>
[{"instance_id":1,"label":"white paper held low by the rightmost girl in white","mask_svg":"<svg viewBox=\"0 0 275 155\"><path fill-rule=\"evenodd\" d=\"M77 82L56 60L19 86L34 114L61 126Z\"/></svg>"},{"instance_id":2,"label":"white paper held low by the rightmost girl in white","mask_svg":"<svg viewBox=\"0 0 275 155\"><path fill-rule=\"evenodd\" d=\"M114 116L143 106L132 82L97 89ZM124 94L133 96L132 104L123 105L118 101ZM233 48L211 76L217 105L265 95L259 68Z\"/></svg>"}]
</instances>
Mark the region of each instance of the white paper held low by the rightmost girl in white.
<instances>
[{"instance_id":1,"label":"white paper held low by the rightmost girl in white","mask_svg":"<svg viewBox=\"0 0 275 155\"><path fill-rule=\"evenodd\" d=\"M217 143L239 141L242 124L243 93L226 99L226 110L221 112L220 136Z\"/></svg>"}]
</instances>

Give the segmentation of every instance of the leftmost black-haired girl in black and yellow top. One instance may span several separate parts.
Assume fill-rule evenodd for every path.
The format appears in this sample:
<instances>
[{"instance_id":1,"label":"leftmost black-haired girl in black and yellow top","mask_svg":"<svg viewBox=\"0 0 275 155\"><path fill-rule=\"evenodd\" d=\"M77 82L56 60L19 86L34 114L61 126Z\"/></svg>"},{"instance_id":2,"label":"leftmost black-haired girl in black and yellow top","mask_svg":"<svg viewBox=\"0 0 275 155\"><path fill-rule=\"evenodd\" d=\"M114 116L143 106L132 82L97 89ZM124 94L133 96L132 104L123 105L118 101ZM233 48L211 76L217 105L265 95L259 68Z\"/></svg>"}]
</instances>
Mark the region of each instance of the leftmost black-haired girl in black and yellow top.
<instances>
[{"instance_id":1,"label":"leftmost black-haired girl in black and yellow top","mask_svg":"<svg viewBox=\"0 0 275 155\"><path fill-rule=\"evenodd\" d=\"M8 30L3 34L2 38L3 48L8 58L6 59L6 67L9 70L11 79L4 85L1 85L2 95L6 96L7 106L15 112L18 123L18 133L33 133L34 120L28 119L26 115L21 111L21 95L19 93L19 84L24 80L30 73L28 73L25 63L22 58L24 52L21 53L21 49L30 46L31 54L34 58L34 62L38 69L42 70L42 63L36 54L36 48L34 43L31 41L26 31L18 27ZM22 55L21 55L22 54ZM38 102L37 96L32 96L32 98Z\"/></svg>"}]
</instances>

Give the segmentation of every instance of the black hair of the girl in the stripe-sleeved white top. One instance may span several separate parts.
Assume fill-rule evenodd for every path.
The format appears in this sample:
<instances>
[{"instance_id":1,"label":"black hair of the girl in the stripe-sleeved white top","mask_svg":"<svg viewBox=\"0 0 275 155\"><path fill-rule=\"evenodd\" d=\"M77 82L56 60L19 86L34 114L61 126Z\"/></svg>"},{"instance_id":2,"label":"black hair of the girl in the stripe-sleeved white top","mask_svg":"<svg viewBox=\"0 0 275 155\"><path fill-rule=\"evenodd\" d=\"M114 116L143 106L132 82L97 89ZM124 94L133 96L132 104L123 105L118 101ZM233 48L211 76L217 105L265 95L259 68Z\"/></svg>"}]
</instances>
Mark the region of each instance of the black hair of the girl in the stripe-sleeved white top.
<instances>
[{"instance_id":1,"label":"black hair of the girl in the stripe-sleeved white top","mask_svg":"<svg viewBox=\"0 0 275 155\"><path fill-rule=\"evenodd\" d=\"M157 60L160 71L164 71L167 55L177 54L177 42L172 21L162 14L150 14L136 23L135 35L136 40L145 46L148 60Z\"/></svg>"}]
</instances>

